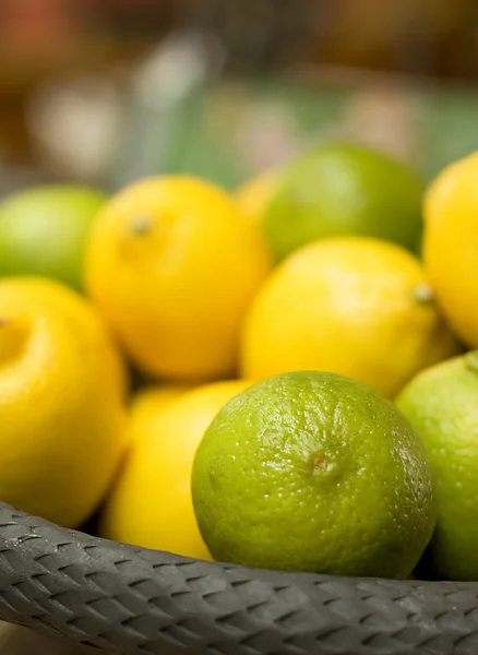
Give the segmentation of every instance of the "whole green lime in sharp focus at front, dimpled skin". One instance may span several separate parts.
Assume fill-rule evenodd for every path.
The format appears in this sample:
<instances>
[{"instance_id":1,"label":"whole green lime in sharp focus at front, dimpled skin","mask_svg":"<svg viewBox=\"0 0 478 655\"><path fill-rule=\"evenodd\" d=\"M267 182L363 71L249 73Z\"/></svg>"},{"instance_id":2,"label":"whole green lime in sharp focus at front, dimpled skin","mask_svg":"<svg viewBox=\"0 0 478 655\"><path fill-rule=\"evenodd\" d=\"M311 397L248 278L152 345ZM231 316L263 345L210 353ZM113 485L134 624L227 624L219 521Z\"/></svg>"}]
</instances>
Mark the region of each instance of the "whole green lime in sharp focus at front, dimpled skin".
<instances>
[{"instance_id":1,"label":"whole green lime in sharp focus at front, dimpled skin","mask_svg":"<svg viewBox=\"0 0 478 655\"><path fill-rule=\"evenodd\" d=\"M216 560L284 571L406 577L435 521L409 421L366 384L316 371L228 403L198 450L192 493Z\"/></svg>"}]
</instances>

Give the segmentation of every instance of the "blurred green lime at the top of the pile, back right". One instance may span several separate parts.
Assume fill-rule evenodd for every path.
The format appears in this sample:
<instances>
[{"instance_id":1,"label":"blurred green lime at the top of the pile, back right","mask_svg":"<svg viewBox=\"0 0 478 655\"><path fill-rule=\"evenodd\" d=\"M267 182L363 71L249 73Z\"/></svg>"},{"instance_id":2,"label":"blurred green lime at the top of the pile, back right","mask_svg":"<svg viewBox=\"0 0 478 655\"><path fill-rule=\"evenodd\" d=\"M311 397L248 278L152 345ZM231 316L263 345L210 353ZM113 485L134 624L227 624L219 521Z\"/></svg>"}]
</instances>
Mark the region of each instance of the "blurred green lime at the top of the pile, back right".
<instances>
[{"instance_id":1,"label":"blurred green lime at the top of the pile, back right","mask_svg":"<svg viewBox=\"0 0 478 655\"><path fill-rule=\"evenodd\" d=\"M264 221L282 259L325 237L359 235L416 249L423 182L404 164L363 145L326 143L284 174Z\"/></svg>"}]
</instances>

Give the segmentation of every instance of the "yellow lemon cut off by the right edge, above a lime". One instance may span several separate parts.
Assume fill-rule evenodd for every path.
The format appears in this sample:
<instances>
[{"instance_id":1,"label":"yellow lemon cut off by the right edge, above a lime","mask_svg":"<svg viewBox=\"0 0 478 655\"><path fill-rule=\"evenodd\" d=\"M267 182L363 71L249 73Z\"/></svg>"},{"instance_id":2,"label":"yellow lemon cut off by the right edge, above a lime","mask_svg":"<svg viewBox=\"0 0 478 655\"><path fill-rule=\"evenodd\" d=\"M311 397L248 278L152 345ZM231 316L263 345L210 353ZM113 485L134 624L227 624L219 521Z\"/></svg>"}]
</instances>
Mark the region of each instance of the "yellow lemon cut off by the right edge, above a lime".
<instances>
[{"instance_id":1,"label":"yellow lemon cut off by the right edge, above a lime","mask_svg":"<svg viewBox=\"0 0 478 655\"><path fill-rule=\"evenodd\" d=\"M423 260L450 324L478 347L478 153L447 166L425 200Z\"/></svg>"}]
</instances>

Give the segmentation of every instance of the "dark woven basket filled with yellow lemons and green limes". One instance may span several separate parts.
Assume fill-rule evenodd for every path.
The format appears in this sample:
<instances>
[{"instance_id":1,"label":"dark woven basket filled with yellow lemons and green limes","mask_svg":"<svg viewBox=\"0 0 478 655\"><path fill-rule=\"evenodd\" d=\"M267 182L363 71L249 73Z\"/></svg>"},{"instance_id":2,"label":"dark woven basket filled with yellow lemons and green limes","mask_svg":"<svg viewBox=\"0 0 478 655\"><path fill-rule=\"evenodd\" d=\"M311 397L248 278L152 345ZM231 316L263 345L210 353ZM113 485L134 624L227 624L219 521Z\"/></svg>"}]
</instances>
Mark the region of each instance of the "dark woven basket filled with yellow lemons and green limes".
<instances>
[{"instance_id":1,"label":"dark woven basket filled with yellow lemons and green limes","mask_svg":"<svg viewBox=\"0 0 478 655\"><path fill-rule=\"evenodd\" d=\"M0 203L0 619L124 654L476 653L478 157Z\"/></svg>"}]
</instances>

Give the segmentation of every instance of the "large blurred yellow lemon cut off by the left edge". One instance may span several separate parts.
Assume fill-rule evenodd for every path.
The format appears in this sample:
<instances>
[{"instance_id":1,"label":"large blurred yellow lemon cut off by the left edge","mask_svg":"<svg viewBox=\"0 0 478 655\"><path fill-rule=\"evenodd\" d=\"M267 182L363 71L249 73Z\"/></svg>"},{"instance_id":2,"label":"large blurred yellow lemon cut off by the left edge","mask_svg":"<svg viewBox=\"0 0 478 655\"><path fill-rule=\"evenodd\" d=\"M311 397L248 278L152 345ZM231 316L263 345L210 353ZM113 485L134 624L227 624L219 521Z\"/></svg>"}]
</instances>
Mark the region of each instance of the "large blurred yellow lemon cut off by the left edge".
<instances>
[{"instance_id":1,"label":"large blurred yellow lemon cut off by the left edge","mask_svg":"<svg viewBox=\"0 0 478 655\"><path fill-rule=\"evenodd\" d=\"M0 498L70 527L98 505L127 438L107 333L86 302L64 306L0 282Z\"/></svg>"}]
</instances>

